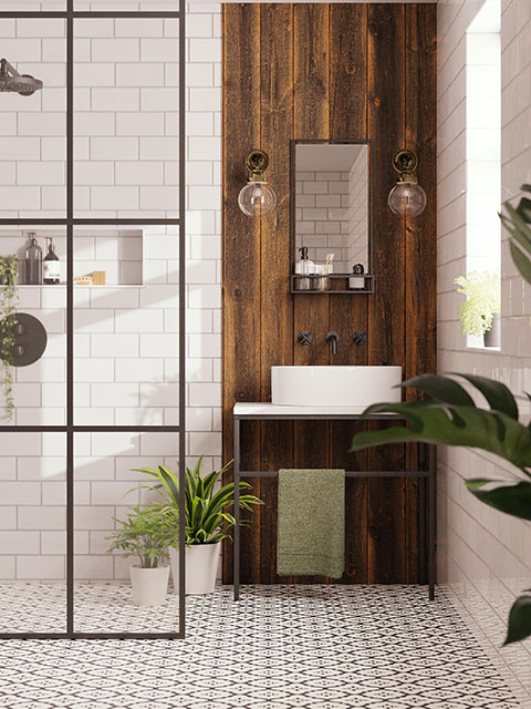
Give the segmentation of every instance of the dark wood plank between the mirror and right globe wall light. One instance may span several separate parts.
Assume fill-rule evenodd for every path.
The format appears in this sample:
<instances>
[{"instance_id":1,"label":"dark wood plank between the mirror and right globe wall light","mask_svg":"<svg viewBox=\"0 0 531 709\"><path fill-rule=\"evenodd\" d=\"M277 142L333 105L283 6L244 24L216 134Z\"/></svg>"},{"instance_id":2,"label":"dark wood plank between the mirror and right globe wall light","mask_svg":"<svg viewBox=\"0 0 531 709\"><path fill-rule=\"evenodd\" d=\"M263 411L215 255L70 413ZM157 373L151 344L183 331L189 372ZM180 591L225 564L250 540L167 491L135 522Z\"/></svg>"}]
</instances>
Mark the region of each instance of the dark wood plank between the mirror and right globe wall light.
<instances>
[{"instance_id":1,"label":"dark wood plank between the mirror and right globe wall light","mask_svg":"<svg viewBox=\"0 0 531 709\"><path fill-rule=\"evenodd\" d=\"M392 158L405 140L405 12L403 6L368 8L368 132L374 141L374 274L368 299L368 363L403 364L405 357L403 219L387 206ZM400 470L404 446L369 449L372 470ZM404 579L405 481L368 482L368 580Z\"/></svg>"}]
</instances>

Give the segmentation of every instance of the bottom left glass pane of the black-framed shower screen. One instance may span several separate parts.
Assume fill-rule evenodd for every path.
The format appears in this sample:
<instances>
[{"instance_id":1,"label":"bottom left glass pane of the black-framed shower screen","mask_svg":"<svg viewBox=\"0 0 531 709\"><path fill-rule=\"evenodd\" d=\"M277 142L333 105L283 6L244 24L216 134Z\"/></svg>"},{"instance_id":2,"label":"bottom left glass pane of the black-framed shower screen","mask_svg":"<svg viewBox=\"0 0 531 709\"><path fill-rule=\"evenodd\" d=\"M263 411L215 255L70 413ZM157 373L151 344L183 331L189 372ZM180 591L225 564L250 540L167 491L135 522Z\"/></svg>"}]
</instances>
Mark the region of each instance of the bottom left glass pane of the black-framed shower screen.
<instances>
[{"instance_id":1,"label":"bottom left glass pane of the black-framed shower screen","mask_svg":"<svg viewBox=\"0 0 531 709\"><path fill-rule=\"evenodd\" d=\"M66 435L0 432L0 634L64 633Z\"/></svg>"}]
</instances>

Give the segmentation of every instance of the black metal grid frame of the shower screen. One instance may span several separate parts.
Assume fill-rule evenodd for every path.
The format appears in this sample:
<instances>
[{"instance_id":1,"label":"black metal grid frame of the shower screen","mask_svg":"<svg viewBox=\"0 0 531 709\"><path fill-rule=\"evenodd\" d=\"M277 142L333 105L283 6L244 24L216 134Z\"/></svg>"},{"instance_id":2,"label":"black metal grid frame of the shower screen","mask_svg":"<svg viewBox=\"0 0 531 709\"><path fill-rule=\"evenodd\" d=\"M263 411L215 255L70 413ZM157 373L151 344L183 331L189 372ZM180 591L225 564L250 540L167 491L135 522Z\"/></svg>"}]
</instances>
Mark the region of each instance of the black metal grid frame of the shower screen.
<instances>
[{"instance_id":1,"label":"black metal grid frame of the shower screen","mask_svg":"<svg viewBox=\"0 0 531 709\"><path fill-rule=\"evenodd\" d=\"M65 633L4 633L0 639L179 639L185 637L185 464L186 464L186 282L185 282L185 216L186 216L186 4L175 0L178 11L75 11L74 0L66 0L64 11L0 11L0 19L64 19L66 22L66 214L65 218L0 218L0 226L63 226L66 228L66 425L0 425L0 432L66 434L66 631ZM102 219L76 218L74 216L74 20L88 18L159 18L178 19L179 62L179 217L158 219ZM74 227L97 226L179 226L179 425L75 425L74 423ZM179 436L179 630L178 633L76 633L74 599L74 434L87 433L177 433Z\"/></svg>"}]
</instances>

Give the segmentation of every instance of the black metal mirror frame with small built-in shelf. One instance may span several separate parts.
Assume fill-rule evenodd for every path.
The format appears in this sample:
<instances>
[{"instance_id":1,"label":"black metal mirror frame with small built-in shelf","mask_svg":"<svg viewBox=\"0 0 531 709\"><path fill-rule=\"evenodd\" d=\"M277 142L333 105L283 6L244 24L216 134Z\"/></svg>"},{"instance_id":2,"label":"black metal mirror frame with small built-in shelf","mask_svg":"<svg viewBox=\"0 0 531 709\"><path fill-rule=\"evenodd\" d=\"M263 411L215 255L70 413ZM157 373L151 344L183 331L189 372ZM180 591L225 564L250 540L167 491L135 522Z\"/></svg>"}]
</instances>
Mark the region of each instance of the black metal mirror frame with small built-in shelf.
<instances>
[{"instance_id":1,"label":"black metal mirror frame with small built-in shelf","mask_svg":"<svg viewBox=\"0 0 531 709\"><path fill-rule=\"evenodd\" d=\"M300 278L316 280L320 276L298 276L294 273L295 266L295 148L296 145L368 145L368 274L365 274L365 288L358 290L319 290L310 288L308 290L295 289L295 281ZM372 138L291 138L290 140L290 292L293 295L325 295L348 294L351 296L366 295L374 292L373 274L373 225L374 225L374 146ZM332 280L346 280L348 274L330 274L326 278ZM368 285L367 285L368 282Z\"/></svg>"}]
</instances>

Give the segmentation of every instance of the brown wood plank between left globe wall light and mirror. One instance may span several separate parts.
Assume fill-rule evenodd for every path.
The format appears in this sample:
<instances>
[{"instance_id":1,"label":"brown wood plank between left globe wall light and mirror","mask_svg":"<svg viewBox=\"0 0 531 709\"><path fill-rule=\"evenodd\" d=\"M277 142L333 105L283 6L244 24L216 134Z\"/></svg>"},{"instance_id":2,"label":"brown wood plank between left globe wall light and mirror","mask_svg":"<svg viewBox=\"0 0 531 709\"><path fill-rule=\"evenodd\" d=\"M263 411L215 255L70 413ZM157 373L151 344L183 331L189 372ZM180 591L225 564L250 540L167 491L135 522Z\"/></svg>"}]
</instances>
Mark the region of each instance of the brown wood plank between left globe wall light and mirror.
<instances>
[{"instance_id":1,"label":"brown wood plank between left globe wall light and mirror","mask_svg":"<svg viewBox=\"0 0 531 709\"><path fill-rule=\"evenodd\" d=\"M271 367L293 362L293 299L290 294L290 250L285 225L290 223L290 152L293 134L293 6L260 7L261 42L261 147L270 155L268 179L278 206L262 219L261 232L261 400L271 398ZM261 467L279 470L293 465L293 424L262 422ZM261 481L264 507L261 524L268 534L260 546L262 583L277 579L275 480Z\"/></svg>"}]
</instances>

